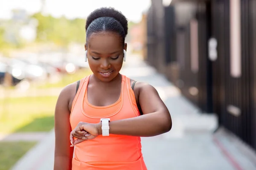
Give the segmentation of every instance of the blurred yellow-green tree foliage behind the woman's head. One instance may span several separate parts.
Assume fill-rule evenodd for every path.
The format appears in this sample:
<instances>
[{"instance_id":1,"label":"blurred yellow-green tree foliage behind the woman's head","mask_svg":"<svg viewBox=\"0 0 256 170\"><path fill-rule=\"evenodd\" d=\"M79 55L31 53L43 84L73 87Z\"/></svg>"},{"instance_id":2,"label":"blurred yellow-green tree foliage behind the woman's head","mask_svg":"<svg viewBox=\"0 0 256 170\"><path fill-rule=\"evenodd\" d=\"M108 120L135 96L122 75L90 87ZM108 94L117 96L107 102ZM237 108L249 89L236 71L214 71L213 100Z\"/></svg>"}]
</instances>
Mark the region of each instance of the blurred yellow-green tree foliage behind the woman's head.
<instances>
[{"instance_id":1,"label":"blurred yellow-green tree foliage behind the woman's head","mask_svg":"<svg viewBox=\"0 0 256 170\"><path fill-rule=\"evenodd\" d=\"M65 48L71 42L84 43L86 40L85 19L75 18L71 20L64 16L56 18L51 15L43 15L41 12L28 16L28 18L37 20L37 37L35 42L53 42L54 44ZM12 20L5 20L4 22L12 23ZM27 23L28 21L24 20L20 26L26 25ZM136 25L136 23L128 22L129 28L134 25ZM18 36L16 35L14 35L17 39L15 42L5 40L5 33L9 27L8 24L6 24L5 27L0 26L0 49L3 50L7 47L18 48L20 44L26 46L26 42L17 39Z\"/></svg>"}]
</instances>

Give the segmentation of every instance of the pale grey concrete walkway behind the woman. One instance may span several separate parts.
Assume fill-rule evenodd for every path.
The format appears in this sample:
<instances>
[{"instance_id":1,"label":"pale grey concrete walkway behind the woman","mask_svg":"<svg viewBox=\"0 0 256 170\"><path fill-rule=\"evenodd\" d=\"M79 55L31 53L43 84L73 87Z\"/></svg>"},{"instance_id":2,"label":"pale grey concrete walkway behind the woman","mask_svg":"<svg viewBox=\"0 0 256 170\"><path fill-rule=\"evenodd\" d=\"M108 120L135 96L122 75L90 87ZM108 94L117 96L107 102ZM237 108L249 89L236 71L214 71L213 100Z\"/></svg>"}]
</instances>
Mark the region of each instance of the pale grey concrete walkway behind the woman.
<instances>
[{"instance_id":1,"label":"pale grey concrete walkway behind the woman","mask_svg":"<svg viewBox=\"0 0 256 170\"><path fill-rule=\"evenodd\" d=\"M148 170L256 170L256 165L225 136L213 135L214 114L201 114L163 75L128 55L121 74L148 82L159 92L172 116L172 130L160 136L142 138ZM12 170L52 170L54 131L30 150Z\"/></svg>"}]
</instances>

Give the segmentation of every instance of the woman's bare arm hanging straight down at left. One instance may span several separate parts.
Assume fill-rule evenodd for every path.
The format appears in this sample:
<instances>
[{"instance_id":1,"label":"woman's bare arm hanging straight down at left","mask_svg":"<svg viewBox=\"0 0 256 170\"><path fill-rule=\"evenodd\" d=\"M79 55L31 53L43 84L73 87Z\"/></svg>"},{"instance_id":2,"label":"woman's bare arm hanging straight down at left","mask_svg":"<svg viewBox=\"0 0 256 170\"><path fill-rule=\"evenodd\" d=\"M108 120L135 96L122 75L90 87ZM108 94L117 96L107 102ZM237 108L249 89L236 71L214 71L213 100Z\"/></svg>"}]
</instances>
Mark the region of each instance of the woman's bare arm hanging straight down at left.
<instances>
[{"instance_id":1,"label":"woman's bare arm hanging straight down at left","mask_svg":"<svg viewBox=\"0 0 256 170\"><path fill-rule=\"evenodd\" d=\"M71 170L74 147L70 147L70 100L74 85L66 86L60 93L55 107L54 170Z\"/></svg>"}]
</instances>

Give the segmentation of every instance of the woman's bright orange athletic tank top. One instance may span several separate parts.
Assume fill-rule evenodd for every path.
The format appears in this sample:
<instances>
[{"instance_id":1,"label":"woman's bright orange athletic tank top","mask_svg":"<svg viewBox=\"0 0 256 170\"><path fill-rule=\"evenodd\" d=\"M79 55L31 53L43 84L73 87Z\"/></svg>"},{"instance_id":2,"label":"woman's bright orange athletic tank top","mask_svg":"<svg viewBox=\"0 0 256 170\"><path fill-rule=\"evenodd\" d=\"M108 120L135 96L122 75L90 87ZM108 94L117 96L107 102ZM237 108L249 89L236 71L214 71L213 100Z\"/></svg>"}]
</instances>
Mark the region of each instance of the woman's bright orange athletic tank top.
<instances>
[{"instance_id":1,"label":"woman's bright orange athletic tank top","mask_svg":"<svg viewBox=\"0 0 256 170\"><path fill-rule=\"evenodd\" d=\"M115 121L140 115L128 77L122 75L120 97L108 106L94 106L88 102L89 79L90 76L81 79L73 101L70 113L72 130L79 122L99 123L101 118ZM110 134L81 142L74 149L72 170L147 170L140 137Z\"/></svg>"}]
</instances>

